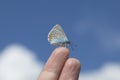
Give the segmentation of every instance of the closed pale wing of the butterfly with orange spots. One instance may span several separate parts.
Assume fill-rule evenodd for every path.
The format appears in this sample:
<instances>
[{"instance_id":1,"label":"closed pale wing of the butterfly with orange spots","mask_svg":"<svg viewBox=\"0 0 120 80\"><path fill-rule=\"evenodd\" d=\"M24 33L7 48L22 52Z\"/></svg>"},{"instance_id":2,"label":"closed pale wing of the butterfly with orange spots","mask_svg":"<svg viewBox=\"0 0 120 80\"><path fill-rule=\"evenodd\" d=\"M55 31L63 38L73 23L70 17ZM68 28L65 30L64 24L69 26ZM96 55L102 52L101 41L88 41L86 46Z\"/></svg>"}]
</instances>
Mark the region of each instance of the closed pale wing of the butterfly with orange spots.
<instances>
[{"instance_id":1,"label":"closed pale wing of the butterfly with orange spots","mask_svg":"<svg viewBox=\"0 0 120 80\"><path fill-rule=\"evenodd\" d=\"M48 41L51 44L62 43L68 41L62 27L56 24L48 34Z\"/></svg>"}]
</instances>

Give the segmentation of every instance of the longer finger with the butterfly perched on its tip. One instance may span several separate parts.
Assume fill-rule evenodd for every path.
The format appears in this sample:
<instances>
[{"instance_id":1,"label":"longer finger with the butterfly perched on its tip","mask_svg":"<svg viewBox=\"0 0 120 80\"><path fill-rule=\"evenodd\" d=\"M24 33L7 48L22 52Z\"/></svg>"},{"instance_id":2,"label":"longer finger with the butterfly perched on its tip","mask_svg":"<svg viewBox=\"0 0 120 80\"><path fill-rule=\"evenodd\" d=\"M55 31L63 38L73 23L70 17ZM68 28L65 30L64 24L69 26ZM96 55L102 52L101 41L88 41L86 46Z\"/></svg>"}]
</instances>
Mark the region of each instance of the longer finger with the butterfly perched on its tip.
<instances>
[{"instance_id":1,"label":"longer finger with the butterfly perched on its tip","mask_svg":"<svg viewBox=\"0 0 120 80\"><path fill-rule=\"evenodd\" d=\"M39 80L58 80L68 56L69 50L67 48L56 48L45 64Z\"/></svg>"}]
</instances>

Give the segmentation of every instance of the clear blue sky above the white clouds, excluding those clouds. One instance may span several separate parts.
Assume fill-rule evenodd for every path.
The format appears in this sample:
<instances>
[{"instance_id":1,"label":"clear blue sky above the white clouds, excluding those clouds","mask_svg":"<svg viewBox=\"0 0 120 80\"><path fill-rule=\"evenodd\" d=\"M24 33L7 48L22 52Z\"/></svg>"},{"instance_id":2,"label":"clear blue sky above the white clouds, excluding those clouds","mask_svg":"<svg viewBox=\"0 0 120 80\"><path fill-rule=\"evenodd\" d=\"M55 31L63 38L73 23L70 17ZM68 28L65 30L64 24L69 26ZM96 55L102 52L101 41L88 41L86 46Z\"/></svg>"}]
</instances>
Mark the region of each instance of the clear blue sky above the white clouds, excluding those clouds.
<instances>
[{"instance_id":1,"label":"clear blue sky above the white clouds, excluding those clouds","mask_svg":"<svg viewBox=\"0 0 120 80\"><path fill-rule=\"evenodd\" d=\"M119 0L1 0L0 50L17 43L46 62L55 48L47 35L60 24L77 45L70 57L81 61L82 71L106 62L120 62Z\"/></svg>"}]
</instances>

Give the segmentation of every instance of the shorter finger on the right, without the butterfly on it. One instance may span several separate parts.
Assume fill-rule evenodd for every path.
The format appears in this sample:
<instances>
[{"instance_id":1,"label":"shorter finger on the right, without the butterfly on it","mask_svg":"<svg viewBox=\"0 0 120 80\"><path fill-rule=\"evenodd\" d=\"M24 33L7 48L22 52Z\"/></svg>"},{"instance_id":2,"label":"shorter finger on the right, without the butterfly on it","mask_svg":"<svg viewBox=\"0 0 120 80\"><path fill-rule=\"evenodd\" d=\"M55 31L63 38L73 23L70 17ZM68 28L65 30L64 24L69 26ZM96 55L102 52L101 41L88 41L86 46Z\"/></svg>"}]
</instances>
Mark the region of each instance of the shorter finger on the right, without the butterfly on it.
<instances>
[{"instance_id":1,"label":"shorter finger on the right, without the butterfly on it","mask_svg":"<svg viewBox=\"0 0 120 80\"><path fill-rule=\"evenodd\" d=\"M80 62L75 58L66 61L59 80L78 80L80 72Z\"/></svg>"}]
</instances>

